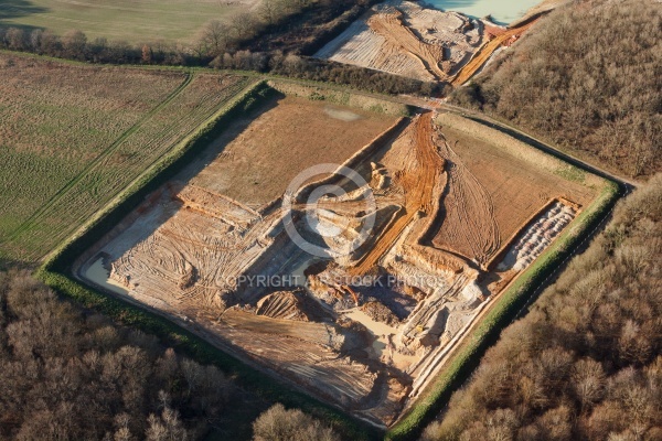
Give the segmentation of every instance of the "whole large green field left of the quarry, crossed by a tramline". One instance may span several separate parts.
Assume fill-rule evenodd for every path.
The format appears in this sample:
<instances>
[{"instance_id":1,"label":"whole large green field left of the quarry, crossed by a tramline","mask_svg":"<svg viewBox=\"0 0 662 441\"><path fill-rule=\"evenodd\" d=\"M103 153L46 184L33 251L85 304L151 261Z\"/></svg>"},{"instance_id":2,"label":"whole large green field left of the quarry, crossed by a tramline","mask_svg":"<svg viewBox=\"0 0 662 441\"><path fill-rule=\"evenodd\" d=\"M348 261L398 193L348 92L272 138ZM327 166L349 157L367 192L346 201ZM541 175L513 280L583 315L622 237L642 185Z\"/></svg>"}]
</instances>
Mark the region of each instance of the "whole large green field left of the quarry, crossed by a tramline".
<instances>
[{"instance_id":1,"label":"whole large green field left of the quarry, crossed by a tramline","mask_svg":"<svg viewBox=\"0 0 662 441\"><path fill-rule=\"evenodd\" d=\"M252 82L0 54L0 258L42 258Z\"/></svg>"}]
</instances>

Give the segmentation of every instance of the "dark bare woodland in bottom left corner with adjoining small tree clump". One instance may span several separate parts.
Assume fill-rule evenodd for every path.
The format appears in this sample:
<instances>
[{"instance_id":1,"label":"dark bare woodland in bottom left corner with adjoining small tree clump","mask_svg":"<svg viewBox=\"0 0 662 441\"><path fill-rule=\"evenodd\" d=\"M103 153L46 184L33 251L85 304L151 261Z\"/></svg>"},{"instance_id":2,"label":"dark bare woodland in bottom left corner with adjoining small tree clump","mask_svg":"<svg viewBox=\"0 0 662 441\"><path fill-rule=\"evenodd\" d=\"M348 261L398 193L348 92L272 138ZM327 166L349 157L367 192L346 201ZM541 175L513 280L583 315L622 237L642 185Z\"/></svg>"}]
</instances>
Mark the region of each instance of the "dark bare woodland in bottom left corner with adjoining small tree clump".
<instances>
[{"instance_id":1,"label":"dark bare woodland in bottom left corner with adjoining small tree clump","mask_svg":"<svg viewBox=\"0 0 662 441\"><path fill-rule=\"evenodd\" d=\"M223 431L231 407L247 406L239 392L215 366L84 314L25 271L0 273L0 440L202 439ZM255 430L263 440L338 439L280 405Z\"/></svg>"}]
</instances>

